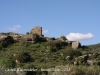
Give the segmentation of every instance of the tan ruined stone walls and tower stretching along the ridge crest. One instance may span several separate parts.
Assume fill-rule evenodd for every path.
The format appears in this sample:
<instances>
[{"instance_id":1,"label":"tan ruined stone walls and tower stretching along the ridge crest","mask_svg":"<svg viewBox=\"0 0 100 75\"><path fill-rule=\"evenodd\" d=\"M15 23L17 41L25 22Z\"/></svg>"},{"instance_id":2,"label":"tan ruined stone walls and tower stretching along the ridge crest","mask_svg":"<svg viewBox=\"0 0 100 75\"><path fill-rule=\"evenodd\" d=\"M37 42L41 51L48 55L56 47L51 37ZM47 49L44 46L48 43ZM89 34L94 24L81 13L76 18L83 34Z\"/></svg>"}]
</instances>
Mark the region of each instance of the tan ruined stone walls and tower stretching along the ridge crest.
<instances>
[{"instance_id":1,"label":"tan ruined stone walls and tower stretching along the ridge crest","mask_svg":"<svg viewBox=\"0 0 100 75\"><path fill-rule=\"evenodd\" d=\"M2 42L8 36L8 34L9 33L0 34L0 42ZM44 37L42 35L42 27L40 26L35 26L32 30L30 30L30 33L28 35L10 33L9 36L11 36L15 42L36 43L39 41L60 40L62 42L67 42L68 44L72 45L73 49L77 49L80 46L80 43L78 41L69 41L65 36L61 36L60 38L57 39L54 37Z\"/></svg>"}]
</instances>

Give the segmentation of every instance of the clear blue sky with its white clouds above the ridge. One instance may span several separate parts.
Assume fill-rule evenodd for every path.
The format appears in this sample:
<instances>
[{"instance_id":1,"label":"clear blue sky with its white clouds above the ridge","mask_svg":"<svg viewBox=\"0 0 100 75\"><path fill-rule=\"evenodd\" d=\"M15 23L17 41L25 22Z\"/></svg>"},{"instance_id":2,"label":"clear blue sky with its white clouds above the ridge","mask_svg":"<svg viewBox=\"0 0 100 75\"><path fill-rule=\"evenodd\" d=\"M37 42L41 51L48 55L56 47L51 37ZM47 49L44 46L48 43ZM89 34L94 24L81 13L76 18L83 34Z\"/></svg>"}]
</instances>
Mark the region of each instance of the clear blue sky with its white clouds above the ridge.
<instances>
[{"instance_id":1,"label":"clear blue sky with its white clouds above the ridge","mask_svg":"<svg viewBox=\"0 0 100 75\"><path fill-rule=\"evenodd\" d=\"M0 0L0 32L66 36L83 45L100 43L100 0Z\"/></svg>"}]
</instances>

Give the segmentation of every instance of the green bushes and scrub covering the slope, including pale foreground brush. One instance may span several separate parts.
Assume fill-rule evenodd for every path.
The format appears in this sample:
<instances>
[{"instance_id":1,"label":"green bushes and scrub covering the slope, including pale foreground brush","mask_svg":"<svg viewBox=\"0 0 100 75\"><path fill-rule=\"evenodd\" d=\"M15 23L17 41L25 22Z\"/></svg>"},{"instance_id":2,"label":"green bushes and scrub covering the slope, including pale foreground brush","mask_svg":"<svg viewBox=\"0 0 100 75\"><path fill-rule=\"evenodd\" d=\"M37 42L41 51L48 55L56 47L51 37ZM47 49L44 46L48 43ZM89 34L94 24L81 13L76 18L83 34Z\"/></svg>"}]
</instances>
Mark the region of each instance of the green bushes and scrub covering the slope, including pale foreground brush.
<instances>
[{"instance_id":1,"label":"green bushes and scrub covering the slope, including pale foreground brush","mask_svg":"<svg viewBox=\"0 0 100 75\"><path fill-rule=\"evenodd\" d=\"M14 42L11 37L0 43L0 67L3 68L36 68L37 72L27 72L28 75L99 75L100 44L82 46L74 50L71 44L61 40L46 41L38 35L33 35L36 43ZM66 40L62 36L63 40ZM15 55L14 55L15 54ZM68 58L70 57L70 58ZM15 60L19 63L15 63ZM95 61L93 65L87 61ZM78 64L74 64L77 62ZM41 72L41 68L56 68L68 66L68 72ZM60 68L59 67L59 68ZM3 72L3 71L2 71ZM62 74L61 74L62 73ZM14 74L13 74L14 75Z\"/></svg>"}]
</instances>

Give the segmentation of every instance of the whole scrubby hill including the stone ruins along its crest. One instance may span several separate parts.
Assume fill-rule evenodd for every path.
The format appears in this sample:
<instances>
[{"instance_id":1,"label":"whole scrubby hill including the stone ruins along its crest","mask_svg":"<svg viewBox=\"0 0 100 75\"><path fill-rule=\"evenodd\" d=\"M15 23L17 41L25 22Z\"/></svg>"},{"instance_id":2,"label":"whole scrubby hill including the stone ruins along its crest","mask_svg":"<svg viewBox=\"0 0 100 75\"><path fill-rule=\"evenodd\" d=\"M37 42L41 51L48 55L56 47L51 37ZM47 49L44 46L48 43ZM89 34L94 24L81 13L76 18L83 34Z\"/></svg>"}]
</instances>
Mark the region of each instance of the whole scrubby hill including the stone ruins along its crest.
<instances>
[{"instance_id":1,"label":"whole scrubby hill including the stone ruins along its crest","mask_svg":"<svg viewBox=\"0 0 100 75\"><path fill-rule=\"evenodd\" d=\"M31 74L27 72L27 75L42 75L45 71L40 71L41 68L56 68L57 66L61 67L61 65L70 65L69 74L75 71L74 74L76 75L80 75L80 73L81 75L89 75L89 67L92 66L91 71L94 71L94 67L98 66L98 68L95 68L96 71L91 73L91 75L98 75L100 69L99 46L100 44L82 46L78 41L68 41L65 36L59 38L44 37L42 27L39 26L34 27L26 34L1 33L0 66L4 68L38 69L38 72ZM87 71L85 71L85 68L87 68ZM50 74L47 71L46 73L45 75ZM56 75L54 73L52 74ZM17 75L19 74L17 73Z\"/></svg>"}]
</instances>

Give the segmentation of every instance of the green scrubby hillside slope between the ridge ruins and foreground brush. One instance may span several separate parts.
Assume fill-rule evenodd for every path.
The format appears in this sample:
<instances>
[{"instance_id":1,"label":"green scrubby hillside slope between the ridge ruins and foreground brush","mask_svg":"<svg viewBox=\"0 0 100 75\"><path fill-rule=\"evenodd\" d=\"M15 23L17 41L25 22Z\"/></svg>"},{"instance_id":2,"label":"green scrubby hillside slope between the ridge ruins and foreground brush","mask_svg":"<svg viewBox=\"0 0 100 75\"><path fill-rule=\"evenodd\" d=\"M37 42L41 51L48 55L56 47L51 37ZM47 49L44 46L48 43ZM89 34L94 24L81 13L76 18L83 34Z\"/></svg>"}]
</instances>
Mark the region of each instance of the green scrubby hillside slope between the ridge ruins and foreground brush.
<instances>
[{"instance_id":1,"label":"green scrubby hillside slope between the ridge ruins and foreground brush","mask_svg":"<svg viewBox=\"0 0 100 75\"><path fill-rule=\"evenodd\" d=\"M59 43L60 45L57 45ZM85 49L80 47L75 50L71 47L71 44L61 41L38 42L36 44L16 42L7 47L0 47L0 66L5 68L14 68L17 66L26 69L34 67L38 70L41 68L54 68L56 66L68 64L88 67L91 65L99 66L99 45L100 44L89 45ZM27 53L26 56L24 53ZM15 58L14 54L18 56ZM29 56L28 59L30 60L26 60L27 56ZM15 59L18 59L19 62L15 62ZM87 63L88 60L95 59L96 62L92 61L93 64ZM77 63L75 64L76 61ZM42 73L39 75L42 75Z\"/></svg>"}]
</instances>

